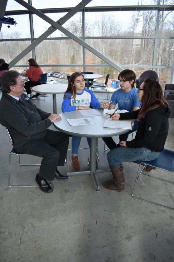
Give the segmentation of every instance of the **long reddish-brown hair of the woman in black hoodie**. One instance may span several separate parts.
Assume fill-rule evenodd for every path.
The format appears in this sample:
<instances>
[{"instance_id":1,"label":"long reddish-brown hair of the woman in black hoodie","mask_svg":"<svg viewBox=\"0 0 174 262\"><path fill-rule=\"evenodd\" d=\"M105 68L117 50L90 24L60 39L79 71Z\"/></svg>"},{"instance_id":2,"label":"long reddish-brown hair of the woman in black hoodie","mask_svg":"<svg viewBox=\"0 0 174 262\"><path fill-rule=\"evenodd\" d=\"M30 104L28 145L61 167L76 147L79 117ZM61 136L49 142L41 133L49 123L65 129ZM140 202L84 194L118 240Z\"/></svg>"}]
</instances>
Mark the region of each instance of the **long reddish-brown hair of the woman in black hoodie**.
<instances>
[{"instance_id":1,"label":"long reddish-brown hair of the woman in black hoodie","mask_svg":"<svg viewBox=\"0 0 174 262\"><path fill-rule=\"evenodd\" d=\"M139 121L152 109L160 106L168 107L168 103L162 93L162 88L156 80L150 78L145 79L143 89L144 93L141 99L141 108L137 118Z\"/></svg>"}]
</instances>

